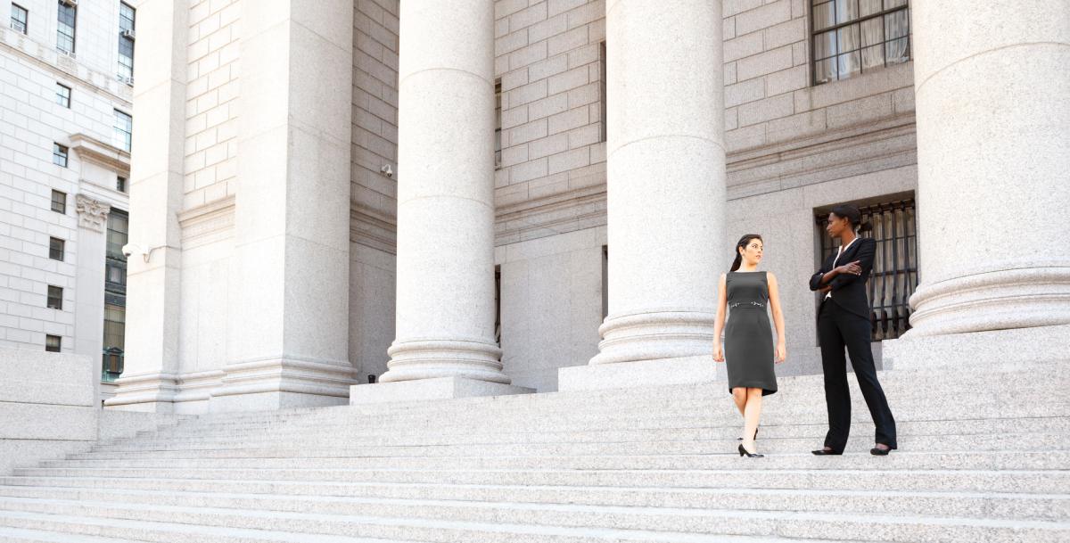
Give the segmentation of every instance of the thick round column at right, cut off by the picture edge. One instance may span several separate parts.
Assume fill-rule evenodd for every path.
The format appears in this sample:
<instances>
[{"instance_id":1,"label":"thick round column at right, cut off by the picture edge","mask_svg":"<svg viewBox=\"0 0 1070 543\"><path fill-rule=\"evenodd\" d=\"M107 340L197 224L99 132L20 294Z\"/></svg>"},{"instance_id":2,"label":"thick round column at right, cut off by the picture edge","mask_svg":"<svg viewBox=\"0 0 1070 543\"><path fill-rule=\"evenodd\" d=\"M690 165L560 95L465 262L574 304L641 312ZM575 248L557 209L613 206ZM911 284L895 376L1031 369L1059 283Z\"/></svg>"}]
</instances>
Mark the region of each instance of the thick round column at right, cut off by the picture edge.
<instances>
[{"instance_id":1,"label":"thick round column at right, cut off by the picture edge","mask_svg":"<svg viewBox=\"0 0 1070 543\"><path fill-rule=\"evenodd\" d=\"M921 284L905 337L1070 324L1070 3L912 9Z\"/></svg>"}]
</instances>

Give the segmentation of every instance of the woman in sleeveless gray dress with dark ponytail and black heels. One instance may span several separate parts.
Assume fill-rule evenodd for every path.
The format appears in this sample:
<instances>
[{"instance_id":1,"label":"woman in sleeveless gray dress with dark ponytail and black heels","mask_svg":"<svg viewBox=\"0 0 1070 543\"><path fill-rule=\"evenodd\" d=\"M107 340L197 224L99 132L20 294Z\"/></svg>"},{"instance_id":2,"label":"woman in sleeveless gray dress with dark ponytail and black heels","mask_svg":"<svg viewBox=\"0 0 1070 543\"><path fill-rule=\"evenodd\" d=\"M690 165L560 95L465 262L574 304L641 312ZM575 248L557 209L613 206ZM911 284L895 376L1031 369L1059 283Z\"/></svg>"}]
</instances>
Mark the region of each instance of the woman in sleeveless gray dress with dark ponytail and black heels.
<instances>
[{"instance_id":1,"label":"woman in sleeveless gray dress with dark ponytail and black heels","mask_svg":"<svg viewBox=\"0 0 1070 543\"><path fill-rule=\"evenodd\" d=\"M777 277L758 270L763 249L764 243L759 234L747 234L736 244L732 269L721 276L717 289L717 320L714 323L714 360L728 360L729 390L744 417L743 444L738 451L740 456L748 457L762 456L754 449L762 397L777 391L777 374L773 364L788 357ZM777 327L775 347L766 306L771 310L773 323ZM725 327L724 316L729 310L732 314Z\"/></svg>"}]
</instances>

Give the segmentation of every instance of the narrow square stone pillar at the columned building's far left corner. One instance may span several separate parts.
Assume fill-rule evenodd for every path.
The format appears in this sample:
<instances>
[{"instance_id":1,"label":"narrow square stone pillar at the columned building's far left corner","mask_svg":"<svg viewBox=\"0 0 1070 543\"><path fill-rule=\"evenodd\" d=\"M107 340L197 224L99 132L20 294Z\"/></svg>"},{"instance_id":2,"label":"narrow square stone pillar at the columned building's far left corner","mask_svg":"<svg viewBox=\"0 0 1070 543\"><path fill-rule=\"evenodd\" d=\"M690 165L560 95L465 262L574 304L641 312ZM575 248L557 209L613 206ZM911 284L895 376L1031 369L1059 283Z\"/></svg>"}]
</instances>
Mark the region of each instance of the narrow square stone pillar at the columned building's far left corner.
<instances>
[{"instance_id":1,"label":"narrow square stone pillar at the columned building's far left corner","mask_svg":"<svg viewBox=\"0 0 1070 543\"><path fill-rule=\"evenodd\" d=\"M129 242L146 254L127 260L124 371L109 407L171 413L178 390L188 12L187 0L138 4Z\"/></svg>"}]
</instances>

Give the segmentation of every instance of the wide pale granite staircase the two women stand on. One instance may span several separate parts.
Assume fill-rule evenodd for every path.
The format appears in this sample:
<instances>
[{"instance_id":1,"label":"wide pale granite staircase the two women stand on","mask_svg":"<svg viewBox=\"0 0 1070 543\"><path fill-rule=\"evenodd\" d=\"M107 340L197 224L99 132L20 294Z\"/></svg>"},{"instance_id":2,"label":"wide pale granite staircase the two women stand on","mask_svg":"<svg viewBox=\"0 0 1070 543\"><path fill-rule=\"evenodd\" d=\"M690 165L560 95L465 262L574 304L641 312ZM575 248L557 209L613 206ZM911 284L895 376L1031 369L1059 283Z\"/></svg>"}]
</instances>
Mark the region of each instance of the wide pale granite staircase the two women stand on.
<instances>
[{"instance_id":1,"label":"wide pale granite staircase the two women stand on","mask_svg":"<svg viewBox=\"0 0 1070 543\"><path fill-rule=\"evenodd\" d=\"M0 478L0 542L1070 542L1070 363L889 371L900 450L722 383L202 416Z\"/></svg>"}]
</instances>

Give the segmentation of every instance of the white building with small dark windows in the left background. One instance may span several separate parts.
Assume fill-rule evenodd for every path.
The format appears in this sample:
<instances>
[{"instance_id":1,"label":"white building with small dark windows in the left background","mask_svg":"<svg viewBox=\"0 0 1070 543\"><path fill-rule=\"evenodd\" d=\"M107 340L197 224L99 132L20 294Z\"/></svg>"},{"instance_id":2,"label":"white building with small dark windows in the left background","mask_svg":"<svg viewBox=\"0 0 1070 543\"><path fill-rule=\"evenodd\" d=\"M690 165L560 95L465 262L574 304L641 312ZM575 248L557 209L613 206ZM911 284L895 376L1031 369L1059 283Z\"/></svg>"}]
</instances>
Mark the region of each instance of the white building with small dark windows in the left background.
<instances>
[{"instance_id":1,"label":"white building with small dark windows in the left background","mask_svg":"<svg viewBox=\"0 0 1070 543\"><path fill-rule=\"evenodd\" d=\"M136 12L0 4L0 343L122 372Z\"/></svg>"}]
</instances>

